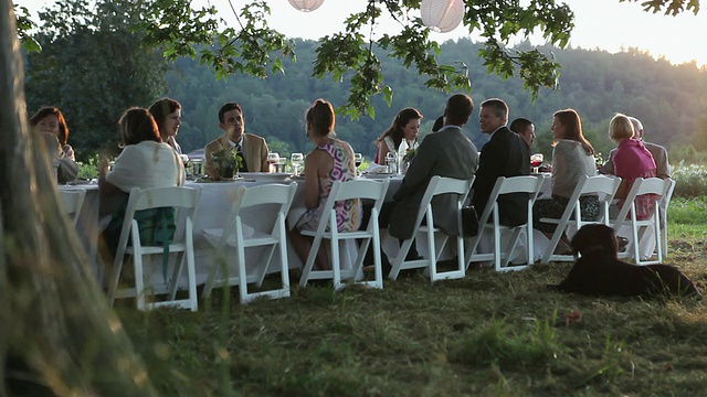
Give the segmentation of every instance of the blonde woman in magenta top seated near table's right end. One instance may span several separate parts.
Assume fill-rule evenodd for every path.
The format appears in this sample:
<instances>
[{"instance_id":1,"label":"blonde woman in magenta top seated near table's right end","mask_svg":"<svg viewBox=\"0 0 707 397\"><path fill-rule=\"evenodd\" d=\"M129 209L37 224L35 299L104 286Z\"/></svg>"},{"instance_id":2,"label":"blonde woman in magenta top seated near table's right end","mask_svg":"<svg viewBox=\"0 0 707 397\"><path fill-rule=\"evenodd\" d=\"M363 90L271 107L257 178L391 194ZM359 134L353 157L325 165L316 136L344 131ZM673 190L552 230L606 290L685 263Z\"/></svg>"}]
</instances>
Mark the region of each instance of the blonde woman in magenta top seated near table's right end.
<instances>
[{"instance_id":1,"label":"blonde woman in magenta top seated near table's right end","mask_svg":"<svg viewBox=\"0 0 707 397\"><path fill-rule=\"evenodd\" d=\"M621 184L616 190L614 198L618 198L616 206L612 205L612 215L618 215L623 206L629 191L633 186L636 178L656 176L656 165L653 154L645 148L642 141L633 139L635 131L631 119L622 114L616 114L609 122L609 138L616 144L616 151L612 158L614 163L614 174L621 178ZM652 215L653 205L651 195L645 194L636 197L636 218L645 219ZM615 214L614 214L615 213Z\"/></svg>"}]
</instances>

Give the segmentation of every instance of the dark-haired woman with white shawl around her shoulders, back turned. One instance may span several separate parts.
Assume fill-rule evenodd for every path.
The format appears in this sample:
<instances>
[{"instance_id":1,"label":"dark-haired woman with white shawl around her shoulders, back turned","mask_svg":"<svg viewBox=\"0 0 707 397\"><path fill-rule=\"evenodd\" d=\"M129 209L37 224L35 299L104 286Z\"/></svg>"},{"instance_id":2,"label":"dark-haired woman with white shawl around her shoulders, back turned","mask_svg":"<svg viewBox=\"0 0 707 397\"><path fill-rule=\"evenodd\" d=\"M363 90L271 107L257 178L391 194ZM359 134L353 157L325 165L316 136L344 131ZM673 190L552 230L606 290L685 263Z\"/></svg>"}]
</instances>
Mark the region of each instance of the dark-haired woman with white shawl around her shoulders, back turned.
<instances>
[{"instance_id":1,"label":"dark-haired woman with white shawl around her shoulders, back turned","mask_svg":"<svg viewBox=\"0 0 707 397\"><path fill-rule=\"evenodd\" d=\"M104 158L98 173L101 201L117 200L116 211L105 230L112 255L118 246L125 204L133 187L170 187L184 184L184 169L177 152L162 142L152 115L144 108L127 109L118 121L123 152L108 173Z\"/></svg>"}]
</instances>

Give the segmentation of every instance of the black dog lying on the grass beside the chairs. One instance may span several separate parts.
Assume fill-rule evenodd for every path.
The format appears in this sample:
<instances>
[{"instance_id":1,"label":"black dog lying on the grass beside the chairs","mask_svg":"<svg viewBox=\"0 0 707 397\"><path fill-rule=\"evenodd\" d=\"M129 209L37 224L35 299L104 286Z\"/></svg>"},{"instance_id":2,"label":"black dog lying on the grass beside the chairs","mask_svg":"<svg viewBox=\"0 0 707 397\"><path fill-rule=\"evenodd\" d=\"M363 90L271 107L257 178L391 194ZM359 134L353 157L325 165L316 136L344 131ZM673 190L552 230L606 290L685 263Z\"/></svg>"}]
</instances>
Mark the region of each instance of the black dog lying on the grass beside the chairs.
<instances>
[{"instance_id":1,"label":"black dog lying on the grass beside the chairs","mask_svg":"<svg viewBox=\"0 0 707 397\"><path fill-rule=\"evenodd\" d=\"M693 281L668 265L637 266L619 260L614 229L585 225L572 237L577 259L572 270L551 290L589 296L694 297L701 299Z\"/></svg>"}]
</instances>

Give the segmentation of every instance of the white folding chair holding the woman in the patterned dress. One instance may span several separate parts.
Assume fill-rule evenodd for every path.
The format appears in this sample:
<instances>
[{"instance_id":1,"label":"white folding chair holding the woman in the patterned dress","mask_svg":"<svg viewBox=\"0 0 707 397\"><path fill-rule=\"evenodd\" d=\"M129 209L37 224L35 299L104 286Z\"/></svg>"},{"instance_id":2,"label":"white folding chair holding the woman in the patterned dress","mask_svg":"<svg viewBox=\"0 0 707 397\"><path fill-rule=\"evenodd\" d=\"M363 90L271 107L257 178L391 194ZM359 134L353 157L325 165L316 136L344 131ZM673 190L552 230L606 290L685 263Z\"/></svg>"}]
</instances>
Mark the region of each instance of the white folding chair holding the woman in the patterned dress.
<instances>
[{"instance_id":1,"label":"white folding chair holding the woman in the patterned dress","mask_svg":"<svg viewBox=\"0 0 707 397\"><path fill-rule=\"evenodd\" d=\"M335 290L340 290L345 287L342 280L349 280L354 283L362 283L368 287L383 288L383 275L381 269L380 257L380 229L378 226L378 215L380 208L386 200L386 192L388 192L388 180L383 181L369 181L369 180L352 180L347 182L337 181L333 184L329 192L329 198L325 204L325 213L321 215L319 227L314 230L300 230L305 236L314 237L309 256L305 264L299 279L299 285L305 287L309 280L331 279ZM336 203L345 200L360 198L360 200L373 200L373 208L371 210L371 216L368 221L368 227L366 230L355 232L338 232L336 222ZM314 270L315 259L323 239L329 239L331 245L331 270ZM354 261L351 269L341 269L341 257L339 254L339 243L346 240L360 240L360 246ZM366 251L373 243L373 267L374 278L373 280L358 281L363 268L363 259ZM348 253L348 246L345 248L345 255L350 258Z\"/></svg>"}]
</instances>

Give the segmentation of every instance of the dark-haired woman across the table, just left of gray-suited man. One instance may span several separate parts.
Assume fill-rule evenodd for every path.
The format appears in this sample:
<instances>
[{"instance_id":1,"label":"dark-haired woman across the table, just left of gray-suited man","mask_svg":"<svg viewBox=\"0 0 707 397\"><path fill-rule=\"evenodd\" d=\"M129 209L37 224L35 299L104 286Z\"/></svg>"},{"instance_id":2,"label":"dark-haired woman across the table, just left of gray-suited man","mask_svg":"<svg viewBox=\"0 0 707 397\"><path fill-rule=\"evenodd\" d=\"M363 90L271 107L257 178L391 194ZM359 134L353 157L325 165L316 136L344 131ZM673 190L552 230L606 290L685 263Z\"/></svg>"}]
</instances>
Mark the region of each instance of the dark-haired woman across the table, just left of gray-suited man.
<instances>
[{"instance_id":1,"label":"dark-haired woman across the table, just left of gray-suited man","mask_svg":"<svg viewBox=\"0 0 707 397\"><path fill-rule=\"evenodd\" d=\"M373 162L386 165L386 154L398 153L403 139L408 142L409 150L416 149L421 119L422 114L415 108L400 110L390 127L376 140L378 151Z\"/></svg>"}]
</instances>

